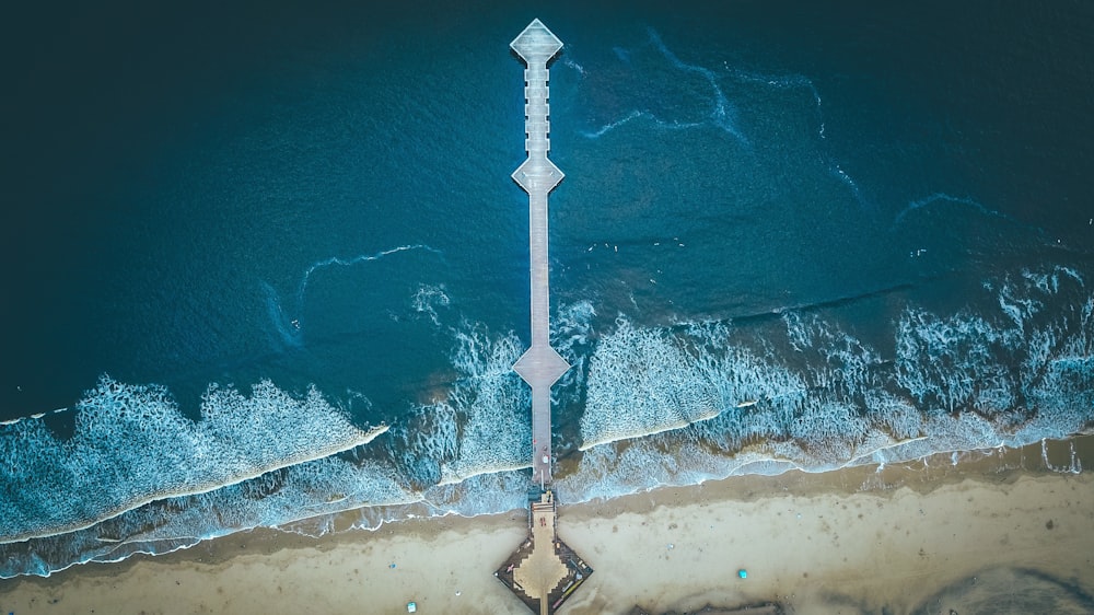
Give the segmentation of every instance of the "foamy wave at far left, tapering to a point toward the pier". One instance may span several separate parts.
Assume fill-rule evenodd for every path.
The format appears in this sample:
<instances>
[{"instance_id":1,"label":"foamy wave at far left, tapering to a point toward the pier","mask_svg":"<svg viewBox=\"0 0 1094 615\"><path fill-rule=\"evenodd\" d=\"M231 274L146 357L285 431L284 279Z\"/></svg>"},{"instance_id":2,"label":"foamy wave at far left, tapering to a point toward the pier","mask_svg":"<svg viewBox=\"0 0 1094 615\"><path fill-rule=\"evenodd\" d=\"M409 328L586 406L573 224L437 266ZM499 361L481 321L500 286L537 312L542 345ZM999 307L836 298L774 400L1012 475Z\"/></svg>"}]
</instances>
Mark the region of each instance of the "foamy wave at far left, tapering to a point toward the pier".
<instances>
[{"instance_id":1,"label":"foamy wave at far left, tapering to a point toward the pier","mask_svg":"<svg viewBox=\"0 0 1094 615\"><path fill-rule=\"evenodd\" d=\"M249 396L212 385L201 420L162 386L103 376L57 439L40 420L0 427L0 543L89 527L150 501L211 491L369 442L314 388L295 398L269 381Z\"/></svg>"}]
</instances>

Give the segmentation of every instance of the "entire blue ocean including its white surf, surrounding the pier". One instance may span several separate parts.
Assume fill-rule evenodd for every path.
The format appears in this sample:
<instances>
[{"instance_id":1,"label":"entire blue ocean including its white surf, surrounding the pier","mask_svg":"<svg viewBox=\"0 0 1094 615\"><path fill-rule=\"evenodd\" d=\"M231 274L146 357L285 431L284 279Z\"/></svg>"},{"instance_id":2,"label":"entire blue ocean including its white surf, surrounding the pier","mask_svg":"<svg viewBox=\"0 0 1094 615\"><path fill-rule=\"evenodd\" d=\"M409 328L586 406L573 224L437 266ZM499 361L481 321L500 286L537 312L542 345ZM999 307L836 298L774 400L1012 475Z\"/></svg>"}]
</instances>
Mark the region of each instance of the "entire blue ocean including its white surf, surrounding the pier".
<instances>
[{"instance_id":1,"label":"entire blue ocean including its white surf, surrounding the pier","mask_svg":"<svg viewBox=\"0 0 1094 615\"><path fill-rule=\"evenodd\" d=\"M0 578L524 504L533 18L562 501L1094 422L1094 5L347 4L0 26Z\"/></svg>"}]
</instances>

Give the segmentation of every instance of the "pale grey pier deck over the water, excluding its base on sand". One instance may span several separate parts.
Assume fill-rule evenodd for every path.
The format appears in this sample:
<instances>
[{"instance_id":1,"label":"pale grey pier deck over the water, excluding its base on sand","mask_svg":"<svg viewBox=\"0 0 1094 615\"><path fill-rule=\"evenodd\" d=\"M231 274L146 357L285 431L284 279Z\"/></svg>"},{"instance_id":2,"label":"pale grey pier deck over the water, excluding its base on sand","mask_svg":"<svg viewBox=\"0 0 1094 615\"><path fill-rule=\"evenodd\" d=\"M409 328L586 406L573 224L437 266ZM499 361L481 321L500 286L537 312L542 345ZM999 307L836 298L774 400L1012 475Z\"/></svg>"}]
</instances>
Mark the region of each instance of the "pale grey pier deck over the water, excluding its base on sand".
<instances>
[{"instance_id":1,"label":"pale grey pier deck over the water, excluding its base on sand","mask_svg":"<svg viewBox=\"0 0 1094 615\"><path fill-rule=\"evenodd\" d=\"M547 275L547 195L562 172L547 158L550 151L550 90L547 62L562 48L539 20L534 20L510 47L524 60L524 149L527 160L513 179L528 193L528 245L532 269L532 347L513 369L532 386L532 479L544 488L551 481L550 387L570 369L550 347L550 300Z\"/></svg>"}]
</instances>

